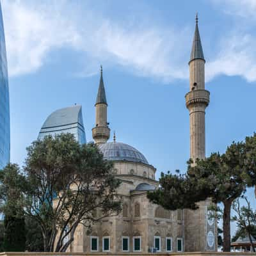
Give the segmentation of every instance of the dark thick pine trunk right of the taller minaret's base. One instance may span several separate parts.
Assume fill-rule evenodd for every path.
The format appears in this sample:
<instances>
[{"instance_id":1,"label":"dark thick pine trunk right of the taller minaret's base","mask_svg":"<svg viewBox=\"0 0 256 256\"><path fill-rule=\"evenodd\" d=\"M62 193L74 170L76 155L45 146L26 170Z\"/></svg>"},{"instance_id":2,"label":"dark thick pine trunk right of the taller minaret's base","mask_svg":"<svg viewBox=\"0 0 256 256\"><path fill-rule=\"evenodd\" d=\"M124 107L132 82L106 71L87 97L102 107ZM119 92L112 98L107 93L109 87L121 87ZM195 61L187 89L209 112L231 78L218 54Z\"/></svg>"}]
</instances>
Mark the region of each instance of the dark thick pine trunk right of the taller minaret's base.
<instances>
[{"instance_id":1,"label":"dark thick pine trunk right of the taller minaret's base","mask_svg":"<svg viewBox=\"0 0 256 256\"><path fill-rule=\"evenodd\" d=\"M223 252L230 252L230 209L232 201L223 202Z\"/></svg>"}]
</instances>

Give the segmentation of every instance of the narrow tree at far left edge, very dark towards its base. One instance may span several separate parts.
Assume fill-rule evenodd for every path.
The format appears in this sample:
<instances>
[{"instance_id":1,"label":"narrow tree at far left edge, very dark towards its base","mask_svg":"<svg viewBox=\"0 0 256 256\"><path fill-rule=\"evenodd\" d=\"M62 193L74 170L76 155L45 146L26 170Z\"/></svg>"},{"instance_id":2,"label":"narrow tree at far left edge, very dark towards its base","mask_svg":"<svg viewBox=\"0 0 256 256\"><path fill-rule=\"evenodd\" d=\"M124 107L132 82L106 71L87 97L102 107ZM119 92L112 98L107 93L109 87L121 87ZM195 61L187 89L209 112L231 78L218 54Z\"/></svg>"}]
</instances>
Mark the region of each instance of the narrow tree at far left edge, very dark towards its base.
<instances>
[{"instance_id":1,"label":"narrow tree at far left edge, very dark towards its base","mask_svg":"<svg viewBox=\"0 0 256 256\"><path fill-rule=\"evenodd\" d=\"M25 177L17 164L8 164L0 172L0 211L4 215L4 251L22 252L25 250L26 231L23 212L22 190Z\"/></svg>"}]
</instances>

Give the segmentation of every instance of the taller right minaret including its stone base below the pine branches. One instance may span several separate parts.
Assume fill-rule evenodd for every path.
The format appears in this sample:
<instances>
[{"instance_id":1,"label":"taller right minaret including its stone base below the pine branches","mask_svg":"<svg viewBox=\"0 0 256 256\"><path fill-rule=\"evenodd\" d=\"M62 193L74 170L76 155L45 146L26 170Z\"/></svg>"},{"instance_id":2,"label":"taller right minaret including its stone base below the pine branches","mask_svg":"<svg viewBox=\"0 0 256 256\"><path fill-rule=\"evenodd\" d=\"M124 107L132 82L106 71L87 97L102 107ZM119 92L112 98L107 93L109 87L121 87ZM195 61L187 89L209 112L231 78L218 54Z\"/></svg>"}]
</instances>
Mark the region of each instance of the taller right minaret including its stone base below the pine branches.
<instances>
[{"instance_id":1,"label":"taller right minaret including its stone base below the pine branches","mask_svg":"<svg viewBox=\"0 0 256 256\"><path fill-rule=\"evenodd\" d=\"M210 93L205 90L204 53L198 30L196 28L189 60L189 88L186 94L186 106L190 120L190 158L205 158L205 108L209 104ZM184 211L184 248L186 252L212 251L217 248L217 225L207 217L211 198L197 203L198 209Z\"/></svg>"}]
</instances>

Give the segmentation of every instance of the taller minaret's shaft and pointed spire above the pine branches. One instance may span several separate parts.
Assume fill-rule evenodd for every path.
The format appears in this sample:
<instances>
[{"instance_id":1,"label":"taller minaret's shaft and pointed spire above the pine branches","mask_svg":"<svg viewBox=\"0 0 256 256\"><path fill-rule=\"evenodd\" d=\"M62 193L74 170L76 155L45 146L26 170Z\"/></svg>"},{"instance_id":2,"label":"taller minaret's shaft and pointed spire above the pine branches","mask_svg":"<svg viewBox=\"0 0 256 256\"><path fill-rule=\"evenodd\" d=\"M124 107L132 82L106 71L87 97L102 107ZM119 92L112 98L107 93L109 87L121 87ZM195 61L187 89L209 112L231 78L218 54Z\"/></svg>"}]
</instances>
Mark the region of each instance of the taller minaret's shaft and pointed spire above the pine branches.
<instances>
[{"instance_id":1,"label":"taller minaret's shaft and pointed spire above the pine branches","mask_svg":"<svg viewBox=\"0 0 256 256\"><path fill-rule=\"evenodd\" d=\"M185 96L190 120L190 158L194 163L197 158L205 157L205 108L209 104L210 93L205 90L204 65L204 52L196 14L195 35L189 60L190 92Z\"/></svg>"}]
</instances>

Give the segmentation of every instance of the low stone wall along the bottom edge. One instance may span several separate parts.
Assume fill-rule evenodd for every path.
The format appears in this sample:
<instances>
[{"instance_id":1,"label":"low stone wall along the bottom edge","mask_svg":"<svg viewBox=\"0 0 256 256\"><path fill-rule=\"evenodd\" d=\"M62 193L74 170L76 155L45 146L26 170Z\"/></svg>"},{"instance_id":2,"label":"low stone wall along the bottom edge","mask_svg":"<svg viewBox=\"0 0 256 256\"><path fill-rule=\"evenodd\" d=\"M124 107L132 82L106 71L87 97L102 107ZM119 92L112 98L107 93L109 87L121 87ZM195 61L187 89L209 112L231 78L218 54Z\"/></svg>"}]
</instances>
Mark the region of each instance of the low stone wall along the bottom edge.
<instances>
[{"instance_id":1,"label":"low stone wall along the bottom edge","mask_svg":"<svg viewBox=\"0 0 256 256\"><path fill-rule=\"evenodd\" d=\"M184 253L83 253L83 252L1 252L0 256L256 256L256 253L243 252L184 252Z\"/></svg>"}]
</instances>

